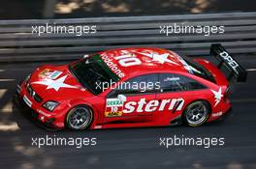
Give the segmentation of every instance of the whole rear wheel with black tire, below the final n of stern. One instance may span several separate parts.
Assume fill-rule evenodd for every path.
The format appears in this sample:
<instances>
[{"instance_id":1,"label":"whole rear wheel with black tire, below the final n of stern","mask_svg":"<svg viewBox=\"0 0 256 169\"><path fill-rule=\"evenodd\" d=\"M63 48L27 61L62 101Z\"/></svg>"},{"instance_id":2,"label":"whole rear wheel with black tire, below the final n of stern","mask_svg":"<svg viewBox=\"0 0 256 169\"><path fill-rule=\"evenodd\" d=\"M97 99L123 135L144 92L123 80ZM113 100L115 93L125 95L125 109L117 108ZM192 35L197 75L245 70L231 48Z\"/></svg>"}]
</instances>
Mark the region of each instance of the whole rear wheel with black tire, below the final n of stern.
<instances>
[{"instance_id":1,"label":"whole rear wheel with black tire, below the final n of stern","mask_svg":"<svg viewBox=\"0 0 256 169\"><path fill-rule=\"evenodd\" d=\"M183 121L190 127L199 127L208 121L210 107L207 101L197 100L186 106Z\"/></svg>"}]
</instances>

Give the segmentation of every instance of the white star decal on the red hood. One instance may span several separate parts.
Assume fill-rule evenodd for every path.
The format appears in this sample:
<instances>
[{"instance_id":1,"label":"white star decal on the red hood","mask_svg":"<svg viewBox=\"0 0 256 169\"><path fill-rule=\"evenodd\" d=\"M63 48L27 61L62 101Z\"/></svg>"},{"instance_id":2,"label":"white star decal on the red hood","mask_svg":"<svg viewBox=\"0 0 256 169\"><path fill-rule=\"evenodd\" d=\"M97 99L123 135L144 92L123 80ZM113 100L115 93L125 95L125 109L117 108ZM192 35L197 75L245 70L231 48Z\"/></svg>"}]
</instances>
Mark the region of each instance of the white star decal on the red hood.
<instances>
[{"instance_id":1,"label":"white star decal on the red hood","mask_svg":"<svg viewBox=\"0 0 256 169\"><path fill-rule=\"evenodd\" d=\"M77 88L76 86L71 86L66 83L64 83L65 79L68 75L65 75L63 77L60 77L56 80L52 79L44 79L42 81L36 81L32 82L31 84L42 84L48 86L47 89L54 89L55 91L58 91L60 88Z\"/></svg>"}]
</instances>

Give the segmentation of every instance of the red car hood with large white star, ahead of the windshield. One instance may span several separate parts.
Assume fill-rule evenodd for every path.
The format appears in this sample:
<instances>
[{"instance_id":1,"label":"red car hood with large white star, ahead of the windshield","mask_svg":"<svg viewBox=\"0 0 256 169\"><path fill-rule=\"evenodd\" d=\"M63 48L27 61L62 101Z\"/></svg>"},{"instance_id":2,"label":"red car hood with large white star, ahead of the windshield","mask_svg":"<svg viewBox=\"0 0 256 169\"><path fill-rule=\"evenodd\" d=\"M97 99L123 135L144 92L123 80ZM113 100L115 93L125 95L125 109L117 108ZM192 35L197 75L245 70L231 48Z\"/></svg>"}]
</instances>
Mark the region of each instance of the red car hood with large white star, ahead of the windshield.
<instances>
[{"instance_id":1,"label":"red car hood with large white star, ahead of the windshield","mask_svg":"<svg viewBox=\"0 0 256 169\"><path fill-rule=\"evenodd\" d=\"M38 68L32 72L28 84L45 101L93 97L81 86L67 65Z\"/></svg>"}]
</instances>

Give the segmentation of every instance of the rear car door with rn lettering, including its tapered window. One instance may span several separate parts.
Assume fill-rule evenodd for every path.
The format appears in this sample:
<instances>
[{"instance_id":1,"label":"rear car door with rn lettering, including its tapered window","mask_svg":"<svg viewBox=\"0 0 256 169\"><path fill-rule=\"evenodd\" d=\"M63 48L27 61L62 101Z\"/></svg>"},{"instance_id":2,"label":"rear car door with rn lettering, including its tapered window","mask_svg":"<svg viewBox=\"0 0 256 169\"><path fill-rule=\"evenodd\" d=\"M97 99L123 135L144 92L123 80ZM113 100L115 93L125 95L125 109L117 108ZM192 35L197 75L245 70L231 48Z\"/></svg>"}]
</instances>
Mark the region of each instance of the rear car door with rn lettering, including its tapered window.
<instances>
[{"instance_id":1,"label":"rear car door with rn lettering, including its tapered window","mask_svg":"<svg viewBox=\"0 0 256 169\"><path fill-rule=\"evenodd\" d=\"M159 114L163 123L170 124L171 120L180 116L186 104L199 99L207 92L207 87L202 83L177 73L160 73L160 89L156 94L159 100Z\"/></svg>"}]
</instances>

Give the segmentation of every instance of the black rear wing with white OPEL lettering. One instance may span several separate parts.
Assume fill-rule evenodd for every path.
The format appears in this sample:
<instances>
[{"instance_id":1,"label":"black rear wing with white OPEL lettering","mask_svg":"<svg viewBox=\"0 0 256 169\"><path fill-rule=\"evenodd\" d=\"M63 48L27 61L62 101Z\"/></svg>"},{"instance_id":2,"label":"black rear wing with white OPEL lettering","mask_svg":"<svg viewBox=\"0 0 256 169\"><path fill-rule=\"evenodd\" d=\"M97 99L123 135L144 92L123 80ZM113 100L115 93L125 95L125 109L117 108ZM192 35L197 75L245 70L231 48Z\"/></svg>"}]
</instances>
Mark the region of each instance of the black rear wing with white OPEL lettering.
<instances>
[{"instance_id":1,"label":"black rear wing with white OPEL lettering","mask_svg":"<svg viewBox=\"0 0 256 169\"><path fill-rule=\"evenodd\" d=\"M218 69L223 66L230 71L228 80L230 81L233 77L237 78L239 82L245 82L247 78L247 71L244 70L238 61L232 57L232 55L220 44L213 43L210 45L210 55L213 55L218 61Z\"/></svg>"}]
</instances>

